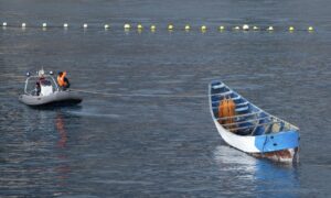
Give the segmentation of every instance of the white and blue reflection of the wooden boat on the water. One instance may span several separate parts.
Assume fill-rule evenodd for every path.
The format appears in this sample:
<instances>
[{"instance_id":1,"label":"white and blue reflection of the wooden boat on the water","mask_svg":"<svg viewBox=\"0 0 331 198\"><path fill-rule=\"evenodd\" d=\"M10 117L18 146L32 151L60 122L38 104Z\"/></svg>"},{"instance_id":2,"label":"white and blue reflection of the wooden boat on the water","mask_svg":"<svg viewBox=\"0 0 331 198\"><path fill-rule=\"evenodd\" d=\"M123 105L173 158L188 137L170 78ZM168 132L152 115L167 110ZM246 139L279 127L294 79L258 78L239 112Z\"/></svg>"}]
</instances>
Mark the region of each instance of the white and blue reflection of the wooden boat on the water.
<instances>
[{"instance_id":1,"label":"white and blue reflection of the wooden boat on the water","mask_svg":"<svg viewBox=\"0 0 331 198\"><path fill-rule=\"evenodd\" d=\"M239 186L247 196L254 193L264 197L298 197L300 183L297 167L255 158L226 145L217 146L214 161L221 172L233 175L222 189ZM233 193L233 187L229 190ZM248 193L249 191L249 193Z\"/></svg>"}]
</instances>

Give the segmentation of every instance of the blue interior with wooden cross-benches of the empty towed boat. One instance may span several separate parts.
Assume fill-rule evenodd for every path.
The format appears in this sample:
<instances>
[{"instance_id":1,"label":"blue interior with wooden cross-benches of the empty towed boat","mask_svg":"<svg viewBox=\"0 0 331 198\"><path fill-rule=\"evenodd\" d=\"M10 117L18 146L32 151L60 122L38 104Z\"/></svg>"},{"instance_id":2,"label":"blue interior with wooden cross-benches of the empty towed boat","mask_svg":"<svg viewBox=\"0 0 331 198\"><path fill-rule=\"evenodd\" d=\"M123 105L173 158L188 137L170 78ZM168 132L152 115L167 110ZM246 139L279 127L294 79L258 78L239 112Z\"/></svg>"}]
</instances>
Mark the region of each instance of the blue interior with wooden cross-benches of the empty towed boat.
<instances>
[{"instance_id":1,"label":"blue interior with wooden cross-benches of the empty towed boat","mask_svg":"<svg viewBox=\"0 0 331 198\"><path fill-rule=\"evenodd\" d=\"M288 131L292 128L285 122L252 105L237 92L229 89L221 81L214 81L210 87L210 99L213 116L218 123L238 135L261 135ZM231 99L235 103L234 116L218 117L220 103L224 99Z\"/></svg>"}]
</instances>

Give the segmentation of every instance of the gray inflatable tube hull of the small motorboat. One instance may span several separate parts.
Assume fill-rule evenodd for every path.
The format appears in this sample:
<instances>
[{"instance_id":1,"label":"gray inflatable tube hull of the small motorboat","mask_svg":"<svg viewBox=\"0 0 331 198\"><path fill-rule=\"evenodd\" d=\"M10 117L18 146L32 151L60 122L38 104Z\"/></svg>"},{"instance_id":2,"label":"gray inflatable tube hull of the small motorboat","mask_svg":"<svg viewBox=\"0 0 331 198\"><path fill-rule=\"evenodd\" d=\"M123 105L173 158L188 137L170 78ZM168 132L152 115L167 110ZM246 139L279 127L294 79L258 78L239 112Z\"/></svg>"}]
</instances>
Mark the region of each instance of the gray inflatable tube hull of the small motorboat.
<instances>
[{"instance_id":1,"label":"gray inflatable tube hull of the small motorboat","mask_svg":"<svg viewBox=\"0 0 331 198\"><path fill-rule=\"evenodd\" d=\"M19 100L30 107L45 107L77 105L83 99L74 91L55 91L49 96L21 95Z\"/></svg>"}]
</instances>

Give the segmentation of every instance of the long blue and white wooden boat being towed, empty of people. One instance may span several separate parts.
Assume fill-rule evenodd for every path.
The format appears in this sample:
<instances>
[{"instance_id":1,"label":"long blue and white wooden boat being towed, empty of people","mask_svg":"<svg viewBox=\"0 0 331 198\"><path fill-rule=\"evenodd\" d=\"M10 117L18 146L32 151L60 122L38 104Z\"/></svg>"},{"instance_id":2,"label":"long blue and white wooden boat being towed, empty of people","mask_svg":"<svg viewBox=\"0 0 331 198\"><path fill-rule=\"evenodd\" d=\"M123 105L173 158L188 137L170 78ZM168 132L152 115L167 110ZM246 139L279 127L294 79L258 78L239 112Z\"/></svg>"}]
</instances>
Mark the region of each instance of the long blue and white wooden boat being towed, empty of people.
<instances>
[{"instance_id":1,"label":"long blue and white wooden boat being towed, empty of people","mask_svg":"<svg viewBox=\"0 0 331 198\"><path fill-rule=\"evenodd\" d=\"M267 113L222 81L209 86L211 113L223 140L257 157L299 161L299 129Z\"/></svg>"}]
</instances>

